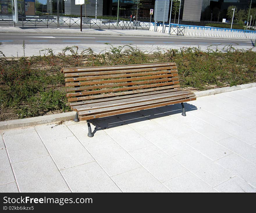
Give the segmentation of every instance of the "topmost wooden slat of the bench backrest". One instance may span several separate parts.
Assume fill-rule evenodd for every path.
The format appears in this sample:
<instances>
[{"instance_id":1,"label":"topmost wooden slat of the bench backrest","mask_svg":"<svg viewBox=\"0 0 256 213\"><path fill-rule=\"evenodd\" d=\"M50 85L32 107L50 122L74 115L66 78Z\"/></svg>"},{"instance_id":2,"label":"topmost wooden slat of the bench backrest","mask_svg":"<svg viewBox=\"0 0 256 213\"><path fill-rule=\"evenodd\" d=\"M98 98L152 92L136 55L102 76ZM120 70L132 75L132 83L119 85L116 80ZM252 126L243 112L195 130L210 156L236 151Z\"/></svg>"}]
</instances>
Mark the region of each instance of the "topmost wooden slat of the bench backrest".
<instances>
[{"instance_id":1,"label":"topmost wooden slat of the bench backrest","mask_svg":"<svg viewBox=\"0 0 256 213\"><path fill-rule=\"evenodd\" d=\"M113 71L113 70L120 70L120 69L140 69L140 68L147 68L147 67L168 67L168 66L175 66L175 63L152 63L152 64L131 64L131 65L116 65L116 66L104 66L104 67L75 67L75 68L64 68L62 71L64 73L72 73L72 72L86 72L86 71Z\"/></svg>"}]
</instances>

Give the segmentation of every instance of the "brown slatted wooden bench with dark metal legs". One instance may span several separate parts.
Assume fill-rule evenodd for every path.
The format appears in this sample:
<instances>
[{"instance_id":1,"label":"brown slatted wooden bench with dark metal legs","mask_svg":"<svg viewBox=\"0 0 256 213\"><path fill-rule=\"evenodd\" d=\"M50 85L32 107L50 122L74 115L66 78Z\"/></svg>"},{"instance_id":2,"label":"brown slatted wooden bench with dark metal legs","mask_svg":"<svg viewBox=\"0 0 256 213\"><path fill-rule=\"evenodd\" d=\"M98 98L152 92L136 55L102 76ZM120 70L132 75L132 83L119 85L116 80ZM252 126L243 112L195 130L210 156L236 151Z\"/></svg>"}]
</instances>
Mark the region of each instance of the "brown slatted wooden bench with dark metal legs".
<instances>
[{"instance_id":1,"label":"brown slatted wooden bench with dark metal legs","mask_svg":"<svg viewBox=\"0 0 256 213\"><path fill-rule=\"evenodd\" d=\"M195 100L180 88L175 63L62 68L75 122Z\"/></svg>"}]
</instances>

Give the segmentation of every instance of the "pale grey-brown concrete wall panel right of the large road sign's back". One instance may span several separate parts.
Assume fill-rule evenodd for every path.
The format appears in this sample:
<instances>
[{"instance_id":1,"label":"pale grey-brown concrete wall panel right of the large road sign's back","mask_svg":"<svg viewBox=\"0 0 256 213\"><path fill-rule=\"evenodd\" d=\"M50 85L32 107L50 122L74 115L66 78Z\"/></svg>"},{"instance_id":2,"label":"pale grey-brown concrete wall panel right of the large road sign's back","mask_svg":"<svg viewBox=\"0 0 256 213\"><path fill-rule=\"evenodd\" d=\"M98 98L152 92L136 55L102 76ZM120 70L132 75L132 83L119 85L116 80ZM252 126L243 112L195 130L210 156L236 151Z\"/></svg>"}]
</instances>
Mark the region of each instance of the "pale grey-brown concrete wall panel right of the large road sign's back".
<instances>
[{"instance_id":1,"label":"pale grey-brown concrete wall panel right of the large road sign's back","mask_svg":"<svg viewBox=\"0 0 256 213\"><path fill-rule=\"evenodd\" d=\"M184 0L182 20L200 21L203 0Z\"/></svg>"}]
</instances>

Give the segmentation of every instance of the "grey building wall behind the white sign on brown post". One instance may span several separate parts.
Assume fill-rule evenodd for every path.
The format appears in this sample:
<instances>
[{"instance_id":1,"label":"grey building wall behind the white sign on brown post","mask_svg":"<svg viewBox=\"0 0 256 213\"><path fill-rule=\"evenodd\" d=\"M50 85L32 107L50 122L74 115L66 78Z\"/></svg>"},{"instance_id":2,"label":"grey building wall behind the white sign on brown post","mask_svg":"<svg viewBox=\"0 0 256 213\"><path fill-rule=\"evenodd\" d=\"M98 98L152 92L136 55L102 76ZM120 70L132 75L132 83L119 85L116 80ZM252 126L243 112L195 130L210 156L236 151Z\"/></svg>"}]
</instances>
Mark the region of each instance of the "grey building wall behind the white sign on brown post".
<instances>
[{"instance_id":1,"label":"grey building wall behind the white sign on brown post","mask_svg":"<svg viewBox=\"0 0 256 213\"><path fill-rule=\"evenodd\" d=\"M90 1L89 1L90 2ZM95 16L95 1L86 4L86 16ZM103 0L97 0L97 16L102 15ZM82 13L84 13L85 7L82 6ZM75 5L75 0L65 1L65 14L80 14L80 5Z\"/></svg>"}]
</instances>

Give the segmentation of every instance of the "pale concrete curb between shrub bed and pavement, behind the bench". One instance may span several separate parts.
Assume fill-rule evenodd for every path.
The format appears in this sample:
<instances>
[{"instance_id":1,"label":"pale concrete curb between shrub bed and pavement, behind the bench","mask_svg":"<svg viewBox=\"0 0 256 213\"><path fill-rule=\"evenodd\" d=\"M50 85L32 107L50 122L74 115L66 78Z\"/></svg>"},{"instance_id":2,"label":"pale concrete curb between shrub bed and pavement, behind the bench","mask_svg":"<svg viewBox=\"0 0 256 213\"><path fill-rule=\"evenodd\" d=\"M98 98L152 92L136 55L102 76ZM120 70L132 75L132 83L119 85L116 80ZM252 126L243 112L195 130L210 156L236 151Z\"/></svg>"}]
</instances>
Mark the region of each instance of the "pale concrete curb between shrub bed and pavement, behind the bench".
<instances>
[{"instance_id":1,"label":"pale concrete curb between shrub bed and pavement, behind the bench","mask_svg":"<svg viewBox=\"0 0 256 213\"><path fill-rule=\"evenodd\" d=\"M256 83L248 83L248 84L242 84L242 85L237 85L232 87L223 87L223 88L217 88L212 90L199 91L199 92L195 92L195 95L196 97L203 97L207 95L215 95L223 92L231 92L234 90L242 90L242 89L247 89L251 87L256 87ZM19 127L71 120L74 118L75 114L76 112L65 112L60 114L38 116L33 118L2 121L0 122L0 130L8 130L8 129L14 129Z\"/></svg>"}]
</instances>

